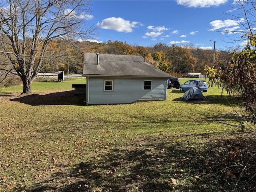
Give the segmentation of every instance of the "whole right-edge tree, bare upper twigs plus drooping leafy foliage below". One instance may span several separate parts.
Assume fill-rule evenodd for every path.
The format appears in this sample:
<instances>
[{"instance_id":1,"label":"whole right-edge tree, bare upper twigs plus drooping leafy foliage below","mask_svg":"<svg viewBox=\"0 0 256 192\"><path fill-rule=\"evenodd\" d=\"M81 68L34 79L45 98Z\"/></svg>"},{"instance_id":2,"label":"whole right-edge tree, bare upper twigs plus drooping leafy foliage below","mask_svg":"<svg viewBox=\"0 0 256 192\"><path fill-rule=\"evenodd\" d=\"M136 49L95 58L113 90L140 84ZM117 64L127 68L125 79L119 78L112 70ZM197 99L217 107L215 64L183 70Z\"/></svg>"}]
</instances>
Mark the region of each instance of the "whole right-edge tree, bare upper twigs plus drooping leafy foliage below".
<instances>
[{"instance_id":1,"label":"whole right-edge tree, bare upper twigs plus drooping leafy foliage below","mask_svg":"<svg viewBox=\"0 0 256 192\"><path fill-rule=\"evenodd\" d=\"M227 64L217 62L214 68L205 66L205 71L212 82L230 95L242 97L246 111L256 124L256 6L253 0L235 0L234 5L239 14L230 16L239 19L238 30L223 28L219 31L240 34L240 40L246 40L248 44L242 50L234 50Z\"/></svg>"}]
</instances>

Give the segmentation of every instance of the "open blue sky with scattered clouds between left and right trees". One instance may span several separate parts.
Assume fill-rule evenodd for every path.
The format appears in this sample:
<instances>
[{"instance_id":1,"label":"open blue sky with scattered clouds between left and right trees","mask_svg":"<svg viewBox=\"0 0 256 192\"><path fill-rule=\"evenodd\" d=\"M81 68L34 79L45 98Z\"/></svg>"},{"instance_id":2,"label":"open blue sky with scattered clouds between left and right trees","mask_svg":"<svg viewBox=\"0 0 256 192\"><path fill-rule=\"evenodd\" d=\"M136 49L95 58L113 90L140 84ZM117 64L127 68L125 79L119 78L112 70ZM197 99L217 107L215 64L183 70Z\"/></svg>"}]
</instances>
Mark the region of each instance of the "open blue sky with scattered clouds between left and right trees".
<instances>
[{"instance_id":1,"label":"open blue sky with scattered clouds between left and right trees","mask_svg":"<svg viewBox=\"0 0 256 192\"><path fill-rule=\"evenodd\" d=\"M242 43L229 43L241 34L220 31L241 29L236 6L232 0L93 0L88 22L98 26L96 42L213 49L215 41L216 50L230 50Z\"/></svg>"}]
</instances>

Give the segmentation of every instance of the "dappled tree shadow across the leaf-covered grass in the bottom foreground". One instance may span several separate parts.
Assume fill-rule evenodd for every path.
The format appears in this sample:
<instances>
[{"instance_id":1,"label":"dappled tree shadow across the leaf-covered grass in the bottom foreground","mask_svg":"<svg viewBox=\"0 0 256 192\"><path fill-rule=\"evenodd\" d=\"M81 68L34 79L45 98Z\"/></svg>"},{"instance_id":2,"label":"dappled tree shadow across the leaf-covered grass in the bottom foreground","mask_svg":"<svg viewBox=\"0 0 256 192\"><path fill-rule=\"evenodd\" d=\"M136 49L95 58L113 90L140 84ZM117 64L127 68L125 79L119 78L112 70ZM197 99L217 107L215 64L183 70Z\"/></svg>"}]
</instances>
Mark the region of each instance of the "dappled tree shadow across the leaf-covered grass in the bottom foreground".
<instances>
[{"instance_id":1,"label":"dappled tree shadow across the leaf-covered grass in the bottom foreground","mask_svg":"<svg viewBox=\"0 0 256 192\"><path fill-rule=\"evenodd\" d=\"M230 151L238 153L240 146L223 141L197 148L189 140L185 144L175 138L164 140L143 140L138 146L127 144L98 152L94 159L66 166L68 171L55 172L27 191L213 192L236 184L234 178L239 177L240 169L233 162L240 157L235 158ZM254 181L255 178L251 183Z\"/></svg>"}]
</instances>

